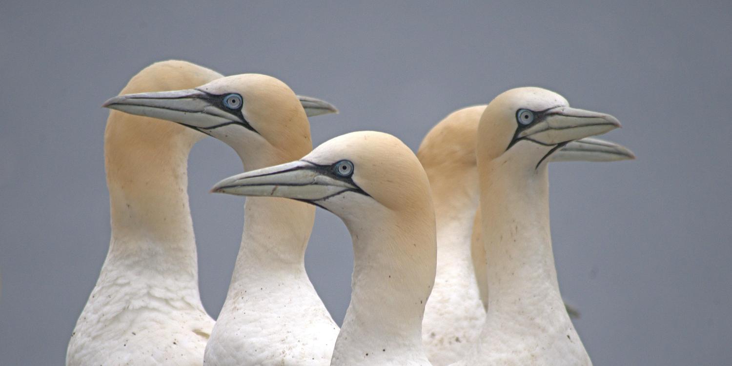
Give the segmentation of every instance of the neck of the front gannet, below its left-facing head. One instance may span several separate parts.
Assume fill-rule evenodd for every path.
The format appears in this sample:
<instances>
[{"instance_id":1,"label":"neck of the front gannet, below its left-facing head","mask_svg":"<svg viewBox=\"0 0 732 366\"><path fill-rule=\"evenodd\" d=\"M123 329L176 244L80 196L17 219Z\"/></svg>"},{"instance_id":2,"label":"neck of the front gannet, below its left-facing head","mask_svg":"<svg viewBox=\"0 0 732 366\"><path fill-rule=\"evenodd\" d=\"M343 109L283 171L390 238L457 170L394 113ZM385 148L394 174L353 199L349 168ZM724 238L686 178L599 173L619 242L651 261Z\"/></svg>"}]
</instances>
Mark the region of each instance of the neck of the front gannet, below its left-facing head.
<instances>
[{"instance_id":1,"label":"neck of the front gannet, below its left-facing head","mask_svg":"<svg viewBox=\"0 0 732 366\"><path fill-rule=\"evenodd\" d=\"M354 273L331 365L428 365L422 317L435 274L434 223L382 215L375 230L371 220L344 219Z\"/></svg>"}]
</instances>

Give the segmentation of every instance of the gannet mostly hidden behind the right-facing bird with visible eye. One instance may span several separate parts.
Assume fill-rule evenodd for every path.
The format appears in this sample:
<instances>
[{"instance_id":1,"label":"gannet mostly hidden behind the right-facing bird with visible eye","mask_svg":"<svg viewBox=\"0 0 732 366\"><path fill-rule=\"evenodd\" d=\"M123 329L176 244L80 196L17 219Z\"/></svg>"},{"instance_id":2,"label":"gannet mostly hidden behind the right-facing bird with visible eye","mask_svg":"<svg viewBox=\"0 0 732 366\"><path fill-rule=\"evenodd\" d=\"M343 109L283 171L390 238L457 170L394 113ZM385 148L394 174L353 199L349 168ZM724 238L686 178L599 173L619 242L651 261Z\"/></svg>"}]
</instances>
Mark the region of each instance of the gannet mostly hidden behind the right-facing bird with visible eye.
<instances>
[{"instance_id":1,"label":"gannet mostly hidden behind the right-facing bird with visible eye","mask_svg":"<svg viewBox=\"0 0 732 366\"><path fill-rule=\"evenodd\" d=\"M430 179L437 222L437 272L422 322L422 341L436 366L463 359L485 321L485 250L482 243L471 241L471 236L480 234L480 225L474 225L479 198L475 146L485 107L450 113L427 133L417 152ZM572 141L550 157L552 161L630 158L630 150L597 138Z\"/></svg>"}]
</instances>

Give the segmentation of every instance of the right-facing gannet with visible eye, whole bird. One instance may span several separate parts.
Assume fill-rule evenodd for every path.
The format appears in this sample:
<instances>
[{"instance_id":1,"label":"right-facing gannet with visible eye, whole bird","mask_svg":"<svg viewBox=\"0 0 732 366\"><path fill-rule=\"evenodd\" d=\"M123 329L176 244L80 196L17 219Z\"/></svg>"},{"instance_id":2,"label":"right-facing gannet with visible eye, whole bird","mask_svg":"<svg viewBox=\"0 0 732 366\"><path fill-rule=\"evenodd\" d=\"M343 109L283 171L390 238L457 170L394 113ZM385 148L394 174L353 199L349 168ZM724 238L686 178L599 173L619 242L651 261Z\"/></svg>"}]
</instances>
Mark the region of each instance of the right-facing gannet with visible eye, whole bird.
<instances>
[{"instance_id":1,"label":"right-facing gannet with visible eye, whole bird","mask_svg":"<svg viewBox=\"0 0 732 366\"><path fill-rule=\"evenodd\" d=\"M564 310L551 249L548 157L569 141L620 127L539 88L511 89L477 132L488 312L460 365L591 365Z\"/></svg>"}]
</instances>

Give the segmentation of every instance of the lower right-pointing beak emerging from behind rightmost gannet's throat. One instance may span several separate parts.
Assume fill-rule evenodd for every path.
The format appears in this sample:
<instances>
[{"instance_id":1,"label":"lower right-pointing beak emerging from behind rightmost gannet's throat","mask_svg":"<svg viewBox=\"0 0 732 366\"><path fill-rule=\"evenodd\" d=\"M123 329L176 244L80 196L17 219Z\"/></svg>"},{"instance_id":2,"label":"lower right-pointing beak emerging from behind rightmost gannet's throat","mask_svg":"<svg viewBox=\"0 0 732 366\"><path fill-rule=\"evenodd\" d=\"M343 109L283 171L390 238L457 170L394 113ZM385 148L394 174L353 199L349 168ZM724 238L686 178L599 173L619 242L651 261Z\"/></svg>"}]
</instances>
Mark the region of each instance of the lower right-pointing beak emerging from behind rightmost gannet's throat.
<instances>
[{"instance_id":1,"label":"lower right-pointing beak emerging from behind rightmost gannet's throat","mask_svg":"<svg viewBox=\"0 0 732 366\"><path fill-rule=\"evenodd\" d=\"M583 138L567 143L549 158L550 161L610 162L633 160L635 154L625 146L600 138Z\"/></svg>"}]
</instances>

